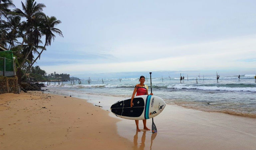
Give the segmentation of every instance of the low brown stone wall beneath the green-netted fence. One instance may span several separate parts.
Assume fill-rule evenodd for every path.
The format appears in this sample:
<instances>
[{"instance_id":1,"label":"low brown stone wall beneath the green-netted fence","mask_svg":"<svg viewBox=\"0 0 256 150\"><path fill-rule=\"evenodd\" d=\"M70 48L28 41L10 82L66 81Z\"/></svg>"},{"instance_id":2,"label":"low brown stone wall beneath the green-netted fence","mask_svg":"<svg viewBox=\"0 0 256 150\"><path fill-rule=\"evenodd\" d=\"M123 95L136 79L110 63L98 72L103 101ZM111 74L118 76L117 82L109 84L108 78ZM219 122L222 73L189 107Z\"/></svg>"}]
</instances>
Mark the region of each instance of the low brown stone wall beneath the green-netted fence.
<instances>
[{"instance_id":1,"label":"low brown stone wall beneath the green-netted fence","mask_svg":"<svg viewBox=\"0 0 256 150\"><path fill-rule=\"evenodd\" d=\"M18 77L0 76L0 94L18 93Z\"/></svg>"}]
</instances>

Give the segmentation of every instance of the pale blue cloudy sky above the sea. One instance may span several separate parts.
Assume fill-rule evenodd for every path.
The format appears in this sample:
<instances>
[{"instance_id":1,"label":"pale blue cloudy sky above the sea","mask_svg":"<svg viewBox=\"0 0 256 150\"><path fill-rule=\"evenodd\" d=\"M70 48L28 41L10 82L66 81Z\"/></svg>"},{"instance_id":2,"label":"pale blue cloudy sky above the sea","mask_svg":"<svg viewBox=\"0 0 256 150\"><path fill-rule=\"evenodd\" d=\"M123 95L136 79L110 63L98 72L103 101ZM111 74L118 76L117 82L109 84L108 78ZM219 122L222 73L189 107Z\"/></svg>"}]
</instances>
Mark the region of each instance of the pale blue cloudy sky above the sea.
<instances>
[{"instance_id":1,"label":"pale blue cloudy sky above the sea","mask_svg":"<svg viewBox=\"0 0 256 150\"><path fill-rule=\"evenodd\" d=\"M62 21L47 73L256 71L255 0L36 1Z\"/></svg>"}]
</instances>

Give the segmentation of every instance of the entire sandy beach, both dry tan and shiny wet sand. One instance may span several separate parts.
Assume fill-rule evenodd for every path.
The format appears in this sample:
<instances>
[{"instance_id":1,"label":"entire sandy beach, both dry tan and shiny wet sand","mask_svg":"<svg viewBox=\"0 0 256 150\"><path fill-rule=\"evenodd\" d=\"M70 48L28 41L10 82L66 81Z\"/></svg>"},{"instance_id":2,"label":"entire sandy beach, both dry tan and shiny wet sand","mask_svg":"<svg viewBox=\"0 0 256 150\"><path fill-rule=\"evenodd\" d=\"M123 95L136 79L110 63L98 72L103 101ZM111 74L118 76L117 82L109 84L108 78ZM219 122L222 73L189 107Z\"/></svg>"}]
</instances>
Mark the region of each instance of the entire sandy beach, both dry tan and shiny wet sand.
<instances>
[{"instance_id":1,"label":"entire sandy beach, both dry tan and shiny wet sand","mask_svg":"<svg viewBox=\"0 0 256 150\"><path fill-rule=\"evenodd\" d=\"M136 132L133 120L107 111L120 97L49 93L0 94L0 149L256 148L252 117L167 105L154 118L158 133L152 134ZM151 123L147 120L150 129ZM142 121L139 127L143 129Z\"/></svg>"}]
</instances>

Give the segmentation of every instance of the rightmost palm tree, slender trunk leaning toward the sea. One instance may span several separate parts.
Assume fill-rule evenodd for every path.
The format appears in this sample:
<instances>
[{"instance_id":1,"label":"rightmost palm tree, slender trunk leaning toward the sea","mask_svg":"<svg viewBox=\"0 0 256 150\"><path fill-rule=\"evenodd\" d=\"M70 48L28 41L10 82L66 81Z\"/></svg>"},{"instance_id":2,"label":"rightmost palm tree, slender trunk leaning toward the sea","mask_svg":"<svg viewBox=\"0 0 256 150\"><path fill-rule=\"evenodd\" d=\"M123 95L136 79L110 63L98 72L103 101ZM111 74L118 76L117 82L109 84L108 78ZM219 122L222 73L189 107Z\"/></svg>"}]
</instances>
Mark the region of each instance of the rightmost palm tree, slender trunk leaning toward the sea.
<instances>
[{"instance_id":1,"label":"rightmost palm tree, slender trunk leaning toward the sea","mask_svg":"<svg viewBox=\"0 0 256 150\"><path fill-rule=\"evenodd\" d=\"M51 45L52 40L54 40L56 37L54 33L57 33L63 37L62 31L60 29L55 28L55 26L60 23L61 23L61 20L57 20L56 17L54 17L54 16L51 16L51 17L44 16L44 19L42 20L42 24L41 24L42 25L41 32L42 32L42 35L45 35L45 46L42 49L42 51L40 52L40 54L37 56L37 58L28 67L27 71L37 61L38 58L40 59L41 54L45 50L45 47L48 45Z\"/></svg>"}]
</instances>

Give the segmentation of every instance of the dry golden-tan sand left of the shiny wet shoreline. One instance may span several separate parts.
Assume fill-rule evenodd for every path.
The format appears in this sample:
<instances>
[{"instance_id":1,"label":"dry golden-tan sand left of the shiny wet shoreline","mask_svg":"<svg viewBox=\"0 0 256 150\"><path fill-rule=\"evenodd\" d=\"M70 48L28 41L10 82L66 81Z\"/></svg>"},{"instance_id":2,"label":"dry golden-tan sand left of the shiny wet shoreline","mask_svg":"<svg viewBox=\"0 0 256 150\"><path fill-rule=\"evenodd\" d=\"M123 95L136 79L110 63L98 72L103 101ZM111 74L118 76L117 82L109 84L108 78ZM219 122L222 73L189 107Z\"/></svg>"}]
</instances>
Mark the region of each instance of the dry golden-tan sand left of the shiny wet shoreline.
<instances>
[{"instance_id":1,"label":"dry golden-tan sand left of the shiny wet shoreline","mask_svg":"<svg viewBox=\"0 0 256 150\"><path fill-rule=\"evenodd\" d=\"M0 149L132 149L108 113L69 96L0 94Z\"/></svg>"}]
</instances>

